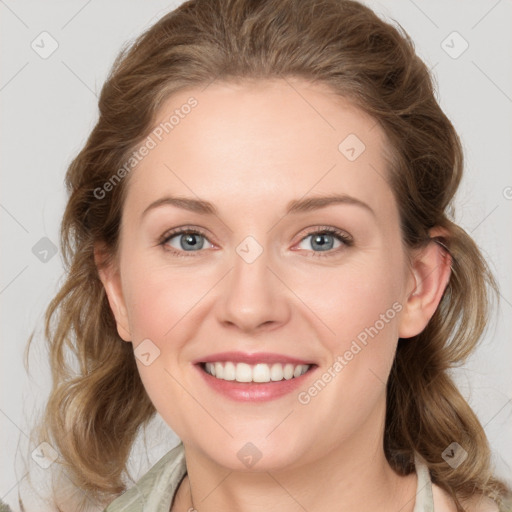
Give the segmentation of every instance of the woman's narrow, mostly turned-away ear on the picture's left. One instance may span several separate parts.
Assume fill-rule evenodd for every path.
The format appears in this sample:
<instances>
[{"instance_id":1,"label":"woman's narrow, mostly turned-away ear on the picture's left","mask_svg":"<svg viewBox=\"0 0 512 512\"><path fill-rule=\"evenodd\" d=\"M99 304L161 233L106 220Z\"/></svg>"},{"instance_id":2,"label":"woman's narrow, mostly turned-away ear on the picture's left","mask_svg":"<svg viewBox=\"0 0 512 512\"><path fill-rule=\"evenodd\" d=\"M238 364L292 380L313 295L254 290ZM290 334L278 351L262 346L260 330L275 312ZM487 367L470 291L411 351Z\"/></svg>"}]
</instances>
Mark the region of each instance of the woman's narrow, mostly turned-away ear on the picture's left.
<instances>
[{"instance_id":1,"label":"woman's narrow, mostly turned-away ear on the picture's left","mask_svg":"<svg viewBox=\"0 0 512 512\"><path fill-rule=\"evenodd\" d=\"M110 309L116 319L117 332L124 341L131 341L119 268L117 263L107 257L107 250L104 244L95 244L94 262L96 263L100 280L105 288Z\"/></svg>"}]
</instances>

